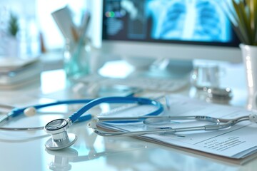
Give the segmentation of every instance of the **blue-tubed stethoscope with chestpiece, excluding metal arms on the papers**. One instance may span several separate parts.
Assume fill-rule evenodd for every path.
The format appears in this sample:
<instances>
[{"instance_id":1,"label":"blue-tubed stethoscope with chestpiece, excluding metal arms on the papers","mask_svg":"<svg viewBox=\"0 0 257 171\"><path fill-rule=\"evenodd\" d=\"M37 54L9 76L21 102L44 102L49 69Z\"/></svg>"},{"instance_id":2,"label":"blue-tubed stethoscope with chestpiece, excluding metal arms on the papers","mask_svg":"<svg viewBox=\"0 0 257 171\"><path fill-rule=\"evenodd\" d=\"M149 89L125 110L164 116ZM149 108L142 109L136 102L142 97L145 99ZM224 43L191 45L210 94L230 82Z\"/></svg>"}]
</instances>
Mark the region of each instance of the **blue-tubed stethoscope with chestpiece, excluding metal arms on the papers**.
<instances>
[{"instance_id":1,"label":"blue-tubed stethoscope with chestpiece, excluding metal arms on the papers","mask_svg":"<svg viewBox=\"0 0 257 171\"><path fill-rule=\"evenodd\" d=\"M11 130L11 131L24 131L24 130L42 130L44 129L46 133L51 134L51 138L46 141L46 148L49 150L61 150L66 147L69 147L74 144L76 141L76 135L74 133L67 133L67 129L73 123L91 120L94 118L93 115L87 114L86 111L93 108L96 105L101 103L136 103L138 105L153 105L156 107L156 110L153 110L151 113L146 115L159 115L163 112L163 106L157 100L151 100L149 98L136 98L133 96L128 97L105 97L105 98L96 98L94 100L63 100L57 101L54 103L46 103L42 105L34 105L24 108L14 108L9 112L6 116L1 118L0 124L4 124L5 122L11 120L11 118L15 118L24 113L24 115L35 115L36 110L41 108L46 108L54 105L71 105L71 104L78 104L78 103L86 103L82 108L77 110L73 113L69 118L60 118L56 120L52 120L51 122L47 123L44 127L34 127L34 128L3 128L1 127L0 130ZM125 122L129 122L125 120ZM121 121L124 123L124 120Z\"/></svg>"}]
</instances>

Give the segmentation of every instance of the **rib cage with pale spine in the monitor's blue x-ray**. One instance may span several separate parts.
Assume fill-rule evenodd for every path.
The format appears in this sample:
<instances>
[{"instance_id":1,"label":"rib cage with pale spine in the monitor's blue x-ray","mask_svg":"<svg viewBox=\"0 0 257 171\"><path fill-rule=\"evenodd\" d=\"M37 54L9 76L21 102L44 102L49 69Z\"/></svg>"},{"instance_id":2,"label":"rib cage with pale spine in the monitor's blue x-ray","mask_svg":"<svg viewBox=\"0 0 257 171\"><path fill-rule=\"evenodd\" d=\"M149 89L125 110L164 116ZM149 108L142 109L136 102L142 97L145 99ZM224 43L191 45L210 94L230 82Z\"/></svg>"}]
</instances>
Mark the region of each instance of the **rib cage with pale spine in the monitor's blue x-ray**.
<instances>
[{"instance_id":1,"label":"rib cage with pale spine in the monitor's blue x-ray","mask_svg":"<svg viewBox=\"0 0 257 171\"><path fill-rule=\"evenodd\" d=\"M221 21L217 5L210 0L172 1L166 9L159 38L220 40Z\"/></svg>"}]
</instances>

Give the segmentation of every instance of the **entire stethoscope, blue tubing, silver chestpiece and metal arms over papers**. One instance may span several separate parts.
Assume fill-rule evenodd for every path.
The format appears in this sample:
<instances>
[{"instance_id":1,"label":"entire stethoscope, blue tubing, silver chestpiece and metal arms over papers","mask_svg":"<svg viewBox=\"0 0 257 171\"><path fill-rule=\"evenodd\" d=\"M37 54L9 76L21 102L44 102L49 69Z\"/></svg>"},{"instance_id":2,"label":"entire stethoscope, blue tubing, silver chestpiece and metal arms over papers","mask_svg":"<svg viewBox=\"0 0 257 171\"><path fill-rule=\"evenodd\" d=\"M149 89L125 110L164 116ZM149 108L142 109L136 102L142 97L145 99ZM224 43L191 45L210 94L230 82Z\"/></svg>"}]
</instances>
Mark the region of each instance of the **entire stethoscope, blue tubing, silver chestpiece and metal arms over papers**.
<instances>
[{"instance_id":1,"label":"entire stethoscope, blue tubing, silver chestpiece and metal arms over papers","mask_svg":"<svg viewBox=\"0 0 257 171\"><path fill-rule=\"evenodd\" d=\"M46 141L45 147L48 150L61 150L74 144L76 141L76 135L74 133L67 133L67 129L73 123L79 121L91 120L88 124L89 128L92 128L95 133L102 136L136 136L145 134L156 134L156 133L179 133L186 131L196 131L196 130L221 130L225 128L230 128L237 123L242 121L250 120L253 123L257 123L257 115L251 114L242 116L234 119L223 119L223 118L212 118L204 115L196 116L159 116L163 112L163 106L157 100L151 100L148 98L136 98L136 97L106 97L106 98L96 98L94 100L64 100L55 103L47 103L44 105L34 105L26 108L14 108L11 112L0 120L0 123L8 121L18 115L24 113L25 115L34 115L37 109L46 108L53 105L63 105L63 104L76 104L76 103L86 103L82 108L73 113L69 118L56 119L47 123L44 127L46 133L51 134L51 138ZM106 116L96 116L91 114L84 115L86 111L93 108L101 103L136 103L138 105L153 105L156 107L151 113L138 117L106 117ZM212 124L184 127L184 128L171 128L171 127L155 127L158 123L170 122L171 120L196 120L196 121L208 121ZM100 123L129 123L135 121L143 121L145 125L152 126L158 129L142 130L142 131L121 131L121 132L106 132L100 130L98 125ZM39 130L38 128L0 128L0 130Z\"/></svg>"}]
</instances>

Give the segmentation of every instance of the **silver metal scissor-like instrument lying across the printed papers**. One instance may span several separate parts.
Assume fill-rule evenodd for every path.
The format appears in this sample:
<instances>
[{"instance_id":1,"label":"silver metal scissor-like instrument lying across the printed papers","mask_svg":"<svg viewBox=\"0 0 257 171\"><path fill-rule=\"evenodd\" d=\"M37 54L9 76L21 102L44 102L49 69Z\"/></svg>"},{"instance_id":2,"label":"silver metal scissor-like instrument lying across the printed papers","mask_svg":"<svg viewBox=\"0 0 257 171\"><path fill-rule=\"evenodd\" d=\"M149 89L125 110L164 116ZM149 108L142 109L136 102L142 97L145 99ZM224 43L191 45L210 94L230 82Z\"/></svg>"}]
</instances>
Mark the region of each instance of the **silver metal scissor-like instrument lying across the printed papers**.
<instances>
[{"instance_id":1,"label":"silver metal scissor-like instrument lying across the printed papers","mask_svg":"<svg viewBox=\"0 0 257 171\"><path fill-rule=\"evenodd\" d=\"M171 128L171 127L161 127L153 130L141 130L141 131L119 131L119 132L107 132L100 130L102 122L114 121L114 120L143 120L143 123L146 125L154 125L156 123L161 123L164 120L174 121L174 120L196 120L196 121L207 121L212 124L201 125L201 126L192 126L192 127L183 127L183 128ZM222 130L226 128L231 128L231 126L236 125L242 121L250 120L252 123L257 123L257 115L245 115L233 119L223 119L223 118L213 118L206 115L195 115L195 116L141 116L141 117L126 117L126 118L111 118L111 117L97 117L94 120L91 120L88 123L89 128L94 130L94 133L97 133L101 136L136 136L136 135L146 135L146 134L156 134L156 133L169 133L175 134L180 132L187 131L196 131L196 130Z\"/></svg>"}]
</instances>

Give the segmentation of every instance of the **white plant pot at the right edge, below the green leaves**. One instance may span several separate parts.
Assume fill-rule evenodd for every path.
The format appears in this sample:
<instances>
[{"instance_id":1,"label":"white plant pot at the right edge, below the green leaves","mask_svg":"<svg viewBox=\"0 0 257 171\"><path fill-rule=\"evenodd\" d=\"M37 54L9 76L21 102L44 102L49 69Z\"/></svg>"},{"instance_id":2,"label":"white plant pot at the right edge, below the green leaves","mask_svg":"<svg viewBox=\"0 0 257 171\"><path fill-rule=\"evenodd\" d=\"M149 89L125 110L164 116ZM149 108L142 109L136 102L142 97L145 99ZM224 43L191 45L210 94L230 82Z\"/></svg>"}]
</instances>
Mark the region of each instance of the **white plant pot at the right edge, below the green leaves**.
<instances>
[{"instance_id":1,"label":"white plant pot at the right edge, below the green leaves","mask_svg":"<svg viewBox=\"0 0 257 171\"><path fill-rule=\"evenodd\" d=\"M240 44L243 64L246 69L246 81L248 88L248 109L256 108L257 96L257 46Z\"/></svg>"}]
</instances>

